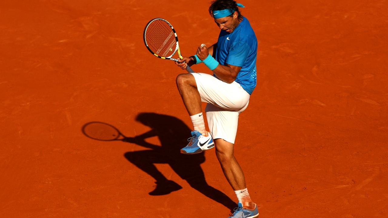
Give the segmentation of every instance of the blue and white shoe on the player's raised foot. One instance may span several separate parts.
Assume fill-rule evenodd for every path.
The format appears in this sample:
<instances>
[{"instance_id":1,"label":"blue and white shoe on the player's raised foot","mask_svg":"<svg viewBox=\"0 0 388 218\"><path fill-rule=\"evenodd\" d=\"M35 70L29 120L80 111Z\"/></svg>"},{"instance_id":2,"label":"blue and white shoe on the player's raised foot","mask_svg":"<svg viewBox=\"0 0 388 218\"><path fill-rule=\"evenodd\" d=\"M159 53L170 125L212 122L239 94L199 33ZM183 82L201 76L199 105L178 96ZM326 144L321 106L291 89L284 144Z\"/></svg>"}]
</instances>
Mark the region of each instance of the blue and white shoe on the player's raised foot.
<instances>
[{"instance_id":1,"label":"blue and white shoe on the player's raised foot","mask_svg":"<svg viewBox=\"0 0 388 218\"><path fill-rule=\"evenodd\" d=\"M208 136L203 136L202 133L194 130L191 132L191 136L191 138L187 139L189 144L180 149L182 154L198 154L214 147L213 138L211 138L210 134Z\"/></svg>"}]
</instances>

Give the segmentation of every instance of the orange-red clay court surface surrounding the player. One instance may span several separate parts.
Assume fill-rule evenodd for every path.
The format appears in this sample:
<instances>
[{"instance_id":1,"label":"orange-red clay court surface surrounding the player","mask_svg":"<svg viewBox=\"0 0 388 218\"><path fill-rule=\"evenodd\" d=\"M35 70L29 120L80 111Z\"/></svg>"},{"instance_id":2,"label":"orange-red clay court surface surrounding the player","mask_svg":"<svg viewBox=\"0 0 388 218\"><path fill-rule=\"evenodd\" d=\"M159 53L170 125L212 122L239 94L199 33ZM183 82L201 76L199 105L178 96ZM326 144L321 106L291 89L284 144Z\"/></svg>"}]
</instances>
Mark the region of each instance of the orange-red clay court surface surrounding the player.
<instances>
[{"instance_id":1,"label":"orange-red clay court surface surrounding the player","mask_svg":"<svg viewBox=\"0 0 388 218\"><path fill-rule=\"evenodd\" d=\"M162 17L183 55L215 43L208 2L0 2L1 217L229 216L237 198L215 150L179 153L185 71L142 39ZM260 218L388 217L387 2L239 3L259 47L235 156ZM82 131L108 125L124 140ZM163 177L182 188L155 192Z\"/></svg>"}]
</instances>

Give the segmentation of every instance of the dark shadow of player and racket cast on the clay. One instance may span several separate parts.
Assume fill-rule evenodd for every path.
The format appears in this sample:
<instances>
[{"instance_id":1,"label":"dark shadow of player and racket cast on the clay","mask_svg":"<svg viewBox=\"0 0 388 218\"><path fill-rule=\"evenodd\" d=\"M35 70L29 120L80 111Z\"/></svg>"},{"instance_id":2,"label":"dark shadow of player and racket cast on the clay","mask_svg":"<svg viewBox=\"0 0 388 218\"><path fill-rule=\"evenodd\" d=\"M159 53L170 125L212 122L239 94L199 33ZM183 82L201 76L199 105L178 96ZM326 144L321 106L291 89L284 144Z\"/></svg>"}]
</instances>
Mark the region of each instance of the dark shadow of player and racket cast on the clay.
<instances>
[{"instance_id":1,"label":"dark shadow of player and racket cast on the clay","mask_svg":"<svg viewBox=\"0 0 388 218\"><path fill-rule=\"evenodd\" d=\"M172 181L168 180L163 173L161 173L155 166L157 163L164 163L170 165L171 169L177 173L180 178L184 179L189 185L201 192L204 196L223 204L231 211L236 207L236 202L232 201L227 195L218 189L210 186L204 176L204 172L200 166L204 163L204 153L187 155L181 154L180 149L184 147L188 142L188 135L190 136L190 128L185 125L183 121L173 116L156 114L156 113L140 113L136 117L136 121L143 125L149 126L150 131L135 137L125 137L114 126L106 124L107 126L117 130L120 137L116 137L113 134L113 130L103 131L108 132L107 135L114 135L112 140L121 140L123 142L134 143L151 150L126 152L124 157L132 164L137 166L140 170L149 174L156 180L156 188L150 192L151 196L161 196L170 194L173 191L180 190L182 187ZM102 124L100 122L91 122L83 126L83 133L90 137L90 134L85 132L87 125L92 126L95 124ZM95 125L97 126L97 125ZM94 127L94 129L96 129ZM99 129L103 129L100 127ZM101 132L101 130L95 130ZM101 133L100 133L101 134ZM153 145L145 141L146 138L155 137L159 138L161 146ZM97 137L90 137L97 139ZM97 139L101 140L101 139ZM104 141L109 141L104 138Z\"/></svg>"}]
</instances>

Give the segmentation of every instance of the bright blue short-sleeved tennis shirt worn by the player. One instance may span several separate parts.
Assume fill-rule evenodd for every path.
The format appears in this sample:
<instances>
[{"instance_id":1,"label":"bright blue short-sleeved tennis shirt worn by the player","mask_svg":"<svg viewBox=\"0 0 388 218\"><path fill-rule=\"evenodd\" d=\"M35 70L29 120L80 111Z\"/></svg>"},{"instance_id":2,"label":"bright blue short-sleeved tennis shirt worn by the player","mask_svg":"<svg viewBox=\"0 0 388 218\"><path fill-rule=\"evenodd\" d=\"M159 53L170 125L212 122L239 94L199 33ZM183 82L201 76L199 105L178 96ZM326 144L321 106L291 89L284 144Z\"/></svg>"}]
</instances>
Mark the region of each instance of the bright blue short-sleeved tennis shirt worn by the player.
<instances>
[{"instance_id":1,"label":"bright blue short-sleeved tennis shirt worn by the player","mask_svg":"<svg viewBox=\"0 0 388 218\"><path fill-rule=\"evenodd\" d=\"M232 33L221 30L215 59L222 65L242 67L235 81L249 95L256 87L256 56L257 38L248 19L243 17Z\"/></svg>"}]
</instances>

